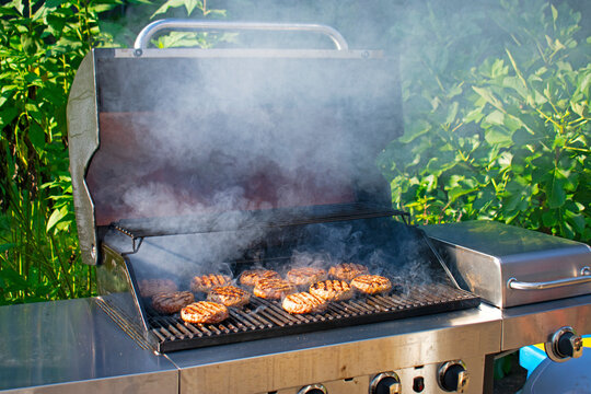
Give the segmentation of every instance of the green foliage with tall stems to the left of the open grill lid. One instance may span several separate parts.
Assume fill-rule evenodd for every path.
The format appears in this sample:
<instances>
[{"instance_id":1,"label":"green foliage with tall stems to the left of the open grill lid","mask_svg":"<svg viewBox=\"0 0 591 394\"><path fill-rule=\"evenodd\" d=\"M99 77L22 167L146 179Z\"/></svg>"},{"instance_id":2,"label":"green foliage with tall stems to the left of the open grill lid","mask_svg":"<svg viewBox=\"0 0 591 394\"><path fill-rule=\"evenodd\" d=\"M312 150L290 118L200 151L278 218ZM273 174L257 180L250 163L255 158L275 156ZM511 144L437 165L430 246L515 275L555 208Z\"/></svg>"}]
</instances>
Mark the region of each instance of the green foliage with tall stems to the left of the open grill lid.
<instances>
[{"instance_id":1,"label":"green foliage with tall stems to the left of the open grill lid","mask_svg":"<svg viewBox=\"0 0 591 394\"><path fill-rule=\"evenodd\" d=\"M206 1L13 0L0 5L0 304L88 297L94 269L80 262L68 171L66 105L92 47L127 46L150 15L223 16ZM171 10L170 10L171 9ZM141 10L141 11L138 11ZM177 16L177 15L176 15ZM219 38L221 40L221 38ZM201 35L159 47L211 44Z\"/></svg>"}]
</instances>

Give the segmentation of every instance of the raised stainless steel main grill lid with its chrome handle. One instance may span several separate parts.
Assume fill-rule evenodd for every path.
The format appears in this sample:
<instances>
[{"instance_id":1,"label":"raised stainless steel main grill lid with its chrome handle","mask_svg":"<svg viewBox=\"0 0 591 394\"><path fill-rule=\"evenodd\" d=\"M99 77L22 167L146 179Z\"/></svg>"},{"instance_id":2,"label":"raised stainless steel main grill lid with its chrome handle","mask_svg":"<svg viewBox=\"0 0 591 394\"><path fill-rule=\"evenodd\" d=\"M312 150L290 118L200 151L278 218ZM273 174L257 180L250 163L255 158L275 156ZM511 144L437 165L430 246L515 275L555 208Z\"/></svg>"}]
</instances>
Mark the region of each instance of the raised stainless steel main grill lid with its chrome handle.
<instances>
[{"instance_id":1,"label":"raised stainless steel main grill lid with its chrome handle","mask_svg":"<svg viewBox=\"0 0 591 394\"><path fill-rule=\"evenodd\" d=\"M402 132L395 59L349 50L326 26L184 23L316 31L337 49L141 49L146 32L139 48L93 49L68 103L86 264L113 223L166 234L175 220L216 231L204 223L240 212L282 223L393 213L375 158Z\"/></svg>"}]
</instances>

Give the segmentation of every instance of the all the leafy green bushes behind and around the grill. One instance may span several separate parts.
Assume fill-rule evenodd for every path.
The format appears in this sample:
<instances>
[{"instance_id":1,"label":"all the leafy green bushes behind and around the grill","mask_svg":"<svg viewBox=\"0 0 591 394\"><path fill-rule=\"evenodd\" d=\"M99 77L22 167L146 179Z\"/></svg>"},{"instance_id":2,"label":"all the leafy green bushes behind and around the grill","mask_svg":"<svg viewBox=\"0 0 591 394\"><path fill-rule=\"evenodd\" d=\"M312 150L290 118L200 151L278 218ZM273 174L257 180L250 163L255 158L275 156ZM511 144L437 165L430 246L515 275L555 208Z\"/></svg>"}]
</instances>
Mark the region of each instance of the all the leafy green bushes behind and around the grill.
<instances>
[{"instance_id":1,"label":"all the leafy green bushes behind and around the grill","mask_svg":"<svg viewBox=\"0 0 591 394\"><path fill-rule=\"evenodd\" d=\"M0 5L0 304L95 292L94 270L80 264L67 152L67 97L83 56L93 46L131 45L153 18L225 16L205 0L125 4ZM292 11L308 7L304 22L334 24L354 47L402 49L406 132L380 165L393 201L417 222L495 219L591 239L591 39L566 2L220 4L231 19L273 21L293 21ZM233 39L172 33L154 45Z\"/></svg>"}]
</instances>

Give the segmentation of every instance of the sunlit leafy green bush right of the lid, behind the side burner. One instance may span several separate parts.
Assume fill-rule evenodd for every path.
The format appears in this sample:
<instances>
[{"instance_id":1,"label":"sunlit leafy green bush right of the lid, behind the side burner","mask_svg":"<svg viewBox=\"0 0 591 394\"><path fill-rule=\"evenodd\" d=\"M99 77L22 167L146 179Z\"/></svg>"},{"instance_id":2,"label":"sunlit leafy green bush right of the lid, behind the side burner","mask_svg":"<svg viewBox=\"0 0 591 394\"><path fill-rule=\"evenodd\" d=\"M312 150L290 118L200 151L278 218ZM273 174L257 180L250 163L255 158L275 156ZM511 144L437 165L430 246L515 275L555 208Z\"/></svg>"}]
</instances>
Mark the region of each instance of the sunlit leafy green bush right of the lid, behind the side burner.
<instances>
[{"instance_id":1,"label":"sunlit leafy green bush right of the lid, behind the side burner","mask_svg":"<svg viewBox=\"0 0 591 394\"><path fill-rule=\"evenodd\" d=\"M416 39L432 42L403 65L406 131L381 158L394 202L422 223L494 219L591 240L591 48L575 38L580 14L501 0L486 14L459 12L460 23L441 18L441 2L427 8Z\"/></svg>"}]
</instances>

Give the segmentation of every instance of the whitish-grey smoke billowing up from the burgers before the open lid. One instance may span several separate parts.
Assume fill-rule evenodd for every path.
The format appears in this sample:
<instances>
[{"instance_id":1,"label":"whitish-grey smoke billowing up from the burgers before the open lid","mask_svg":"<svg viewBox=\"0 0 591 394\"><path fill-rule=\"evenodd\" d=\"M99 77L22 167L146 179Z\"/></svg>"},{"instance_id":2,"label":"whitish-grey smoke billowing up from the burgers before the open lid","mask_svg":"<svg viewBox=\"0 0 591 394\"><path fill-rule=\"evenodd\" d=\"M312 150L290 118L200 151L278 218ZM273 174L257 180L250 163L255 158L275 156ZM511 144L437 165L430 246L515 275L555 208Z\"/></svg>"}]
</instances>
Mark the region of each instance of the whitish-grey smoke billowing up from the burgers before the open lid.
<instances>
[{"instance_id":1,"label":"whitish-grey smoke billowing up from the burgers before the open lid","mask_svg":"<svg viewBox=\"0 0 591 394\"><path fill-rule=\"evenodd\" d=\"M282 9L235 14L326 23L343 31L351 49L385 49L383 56L269 51L100 59L101 148L88 173L97 223L123 222L131 231L149 223L154 233L176 234L146 239L131 255L138 276L183 281L237 274L235 262L265 248L271 236L260 211L357 202L389 207L389 185L375 160L403 131L399 54L387 36L399 9L384 1L347 4L356 12L345 14L335 2L308 8L283 2ZM332 45L310 33L244 34L237 42L271 48ZM280 251L285 259L277 267L283 269L346 262L401 281L427 280L414 237L387 225L386 235L376 235L380 231L362 221L313 224L298 233L296 244L269 248Z\"/></svg>"}]
</instances>

